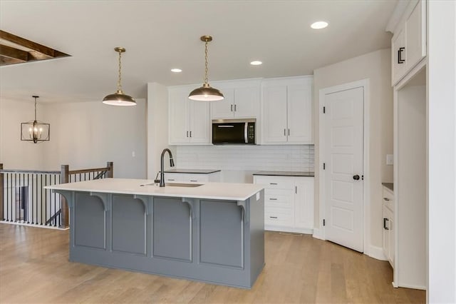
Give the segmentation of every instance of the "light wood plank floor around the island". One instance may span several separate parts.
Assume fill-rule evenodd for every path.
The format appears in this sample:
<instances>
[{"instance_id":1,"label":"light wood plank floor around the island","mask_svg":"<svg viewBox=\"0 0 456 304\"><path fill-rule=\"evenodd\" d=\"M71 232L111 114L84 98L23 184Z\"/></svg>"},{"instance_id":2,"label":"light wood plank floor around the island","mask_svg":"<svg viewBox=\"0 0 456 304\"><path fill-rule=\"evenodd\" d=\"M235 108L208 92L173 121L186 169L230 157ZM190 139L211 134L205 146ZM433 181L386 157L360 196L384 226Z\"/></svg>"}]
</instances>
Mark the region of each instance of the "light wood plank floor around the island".
<instances>
[{"instance_id":1,"label":"light wood plank floor around the island","mask_svg":"<svg viewBox=\"0 0 456 304\"><path fill-rule=\"evenodd\" d=\"M252 290L68 262L68 230L0 224L0 303L425 303L388 262L311 235L266 232Z\"/></svg>"}]
</instances>

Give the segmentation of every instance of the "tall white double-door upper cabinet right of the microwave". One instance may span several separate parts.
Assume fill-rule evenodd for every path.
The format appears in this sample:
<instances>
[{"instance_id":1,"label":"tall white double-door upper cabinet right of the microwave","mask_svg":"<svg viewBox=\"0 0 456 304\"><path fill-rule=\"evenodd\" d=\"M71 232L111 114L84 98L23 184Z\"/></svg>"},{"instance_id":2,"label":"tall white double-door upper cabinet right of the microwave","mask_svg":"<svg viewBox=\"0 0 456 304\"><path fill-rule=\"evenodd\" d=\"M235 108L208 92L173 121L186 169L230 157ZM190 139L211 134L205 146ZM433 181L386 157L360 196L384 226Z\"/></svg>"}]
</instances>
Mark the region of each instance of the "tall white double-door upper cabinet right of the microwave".
<instances>
[{"instance_id":1,"label":"tall white double-door upper cabinet right of the microwave","mask_svg":"<svg viewBox=\"0 0 456 304\"><path fill-rule=\"evenodd\" d=\"M262 83L262 144L313 143L313 77Z\"/></svg>"}]
</instances>

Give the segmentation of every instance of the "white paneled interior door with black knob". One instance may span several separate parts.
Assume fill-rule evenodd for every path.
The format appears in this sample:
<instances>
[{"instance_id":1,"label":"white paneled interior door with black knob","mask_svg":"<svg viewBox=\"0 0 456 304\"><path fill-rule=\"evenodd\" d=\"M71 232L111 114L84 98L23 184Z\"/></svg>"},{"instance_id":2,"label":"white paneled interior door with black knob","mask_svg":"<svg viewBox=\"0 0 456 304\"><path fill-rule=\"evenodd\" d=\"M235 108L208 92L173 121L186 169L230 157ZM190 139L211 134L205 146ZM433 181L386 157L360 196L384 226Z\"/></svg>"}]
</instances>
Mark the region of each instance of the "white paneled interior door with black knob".
<instances>
[{"instance_id":1,"label":"white paneled interior door with black knob","mask_svg":"<svg viewBox=\"0 0 456 304\"><path fill-rule=\"evenodd\" d=\"M364 88L324 96L325 237L363 252Z\"/></svg>"}]
</instances>

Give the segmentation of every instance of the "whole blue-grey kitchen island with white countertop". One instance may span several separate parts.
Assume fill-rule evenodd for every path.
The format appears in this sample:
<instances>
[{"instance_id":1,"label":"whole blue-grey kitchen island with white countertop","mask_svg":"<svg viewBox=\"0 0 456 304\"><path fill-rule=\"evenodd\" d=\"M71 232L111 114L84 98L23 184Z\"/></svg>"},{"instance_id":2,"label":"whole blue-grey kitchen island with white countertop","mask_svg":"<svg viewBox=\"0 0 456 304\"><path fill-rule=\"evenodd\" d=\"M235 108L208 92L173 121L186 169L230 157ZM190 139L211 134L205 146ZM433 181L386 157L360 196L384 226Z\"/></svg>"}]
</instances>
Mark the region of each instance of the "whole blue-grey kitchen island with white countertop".
<instances>
[{"instance_id":1,"label":"whole blue-grey kitchen island with white countertop","mask_svg":"<svg viewBox=\"0 0 456 304\"><path fill-rule=\"evenodd\" d=\"M252 288L264 267L264 190L105 178L46 186L70 208L69 260Z\"/></svg>"}]
</instances>

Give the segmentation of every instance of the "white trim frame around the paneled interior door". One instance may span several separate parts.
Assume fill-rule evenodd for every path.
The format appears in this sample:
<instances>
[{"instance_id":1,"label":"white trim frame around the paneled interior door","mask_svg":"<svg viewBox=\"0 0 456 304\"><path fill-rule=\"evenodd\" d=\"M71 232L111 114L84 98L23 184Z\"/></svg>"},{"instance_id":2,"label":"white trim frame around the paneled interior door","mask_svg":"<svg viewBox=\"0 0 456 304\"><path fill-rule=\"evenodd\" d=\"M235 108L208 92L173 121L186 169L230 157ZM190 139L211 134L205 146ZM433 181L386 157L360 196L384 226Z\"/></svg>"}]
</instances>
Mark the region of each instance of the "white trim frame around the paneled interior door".
<instances>
[{"instance_id":1,"label":"white trim frame around the paneled interior door","mask_svg":"<svg viewBox=\"0 0 456 304\"><path fill-rule=\"evenodd\" d=\"M325 124L323 119L323 106L325 106L325 95L329 93L336 93L338 91L346 91L352 88L363 88L364 91L364 109L363 109L363 253L371 255L371 200L370 195L370 168L369 168L369 131L370 131L370 96L369 96L369 78L362 79L360 81L353 81L349 83L343 83L338 86L330 86L327 88L321 88L318 97L318 230L319 238L326 240L325 227L323 226L323 218L326 213L326 193L325 193L325 171L323 171L323 158L325 155Z\"/></svg>"}]
</instances>

